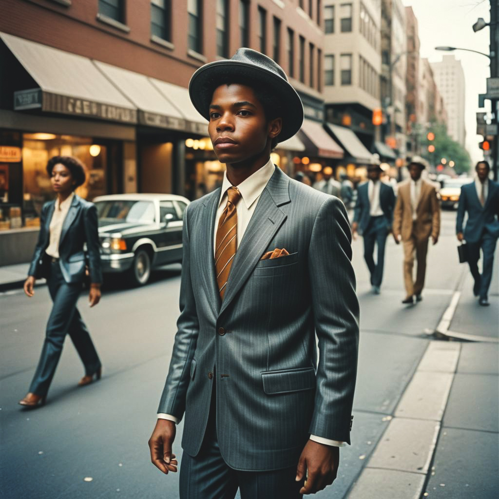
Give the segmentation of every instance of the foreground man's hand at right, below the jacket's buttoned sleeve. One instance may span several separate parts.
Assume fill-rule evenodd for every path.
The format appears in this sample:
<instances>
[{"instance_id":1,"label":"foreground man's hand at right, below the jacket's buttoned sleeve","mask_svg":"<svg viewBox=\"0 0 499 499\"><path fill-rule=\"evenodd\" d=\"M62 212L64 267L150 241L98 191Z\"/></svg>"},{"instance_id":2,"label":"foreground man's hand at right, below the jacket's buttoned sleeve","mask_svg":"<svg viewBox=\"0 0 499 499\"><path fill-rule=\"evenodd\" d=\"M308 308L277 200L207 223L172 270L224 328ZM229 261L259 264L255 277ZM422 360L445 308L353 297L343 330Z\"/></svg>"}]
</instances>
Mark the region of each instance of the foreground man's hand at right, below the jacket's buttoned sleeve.
<instances>
[{"instance_id":1,"label":"foreground man's hand at right, below the jacket's buttoned sleeve","mask_svg":"<svg viewBox=\"0 0 499 499\"><path fill-rule=\"evenodd\" d=\"M339 447L309 440L301 452L296 468L297 482L307 477L300 494L315 494L331 485L338 473L339 462Z\"/></svg>"}]
</instances>

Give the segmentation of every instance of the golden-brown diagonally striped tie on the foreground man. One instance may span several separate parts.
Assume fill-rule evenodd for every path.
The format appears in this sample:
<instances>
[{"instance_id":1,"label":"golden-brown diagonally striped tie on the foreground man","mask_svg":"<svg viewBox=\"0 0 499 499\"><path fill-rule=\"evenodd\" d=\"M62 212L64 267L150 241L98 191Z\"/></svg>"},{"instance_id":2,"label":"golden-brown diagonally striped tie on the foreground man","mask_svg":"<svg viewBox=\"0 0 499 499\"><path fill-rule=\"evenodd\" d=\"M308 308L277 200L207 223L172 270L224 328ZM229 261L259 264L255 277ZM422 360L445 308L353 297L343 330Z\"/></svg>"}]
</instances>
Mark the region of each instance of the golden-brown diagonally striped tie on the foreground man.
<instances>
[{"instance_id":1,"label":"golden-brown diagonally striped tie on the foreground man","mask_svg":"<svg viewBox=\"0 0 499 499\"><path fill-rule=\"evenodd\" d=\"M224 299L232 261L238 248L238 212L236 205L241 198L237 187L227 190L227 205L220 216L215 243L215 270L220 297Z\"/></svg>"}]
</instances>

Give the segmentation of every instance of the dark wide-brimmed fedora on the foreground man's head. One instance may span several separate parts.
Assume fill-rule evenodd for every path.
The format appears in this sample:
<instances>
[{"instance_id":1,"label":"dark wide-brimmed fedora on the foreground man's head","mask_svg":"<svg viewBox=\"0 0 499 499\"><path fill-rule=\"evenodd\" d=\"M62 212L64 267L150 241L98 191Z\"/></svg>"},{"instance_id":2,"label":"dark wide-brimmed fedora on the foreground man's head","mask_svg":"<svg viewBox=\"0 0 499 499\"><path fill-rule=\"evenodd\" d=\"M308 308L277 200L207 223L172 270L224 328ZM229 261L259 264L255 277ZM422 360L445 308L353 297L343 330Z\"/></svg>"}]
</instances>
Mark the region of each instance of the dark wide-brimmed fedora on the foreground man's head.
<instances>
[{"instance_id":1,"label":"dark wide-brimmed fedora on the foreground man's head","mask_svg":"<svg viewBox=\"0 0 499 499\"><path fill-rule=\"evenodd\" d=\"M284 70L266 55L251 48L238 48L231 59L201 66L189 82L189 95L197 111L210 119L209 106L214 90L224 83L262 86L281 103L282 130L277 140L292 137L303 122L303 104L287 81Z\"/></svg>"}]
</instances>

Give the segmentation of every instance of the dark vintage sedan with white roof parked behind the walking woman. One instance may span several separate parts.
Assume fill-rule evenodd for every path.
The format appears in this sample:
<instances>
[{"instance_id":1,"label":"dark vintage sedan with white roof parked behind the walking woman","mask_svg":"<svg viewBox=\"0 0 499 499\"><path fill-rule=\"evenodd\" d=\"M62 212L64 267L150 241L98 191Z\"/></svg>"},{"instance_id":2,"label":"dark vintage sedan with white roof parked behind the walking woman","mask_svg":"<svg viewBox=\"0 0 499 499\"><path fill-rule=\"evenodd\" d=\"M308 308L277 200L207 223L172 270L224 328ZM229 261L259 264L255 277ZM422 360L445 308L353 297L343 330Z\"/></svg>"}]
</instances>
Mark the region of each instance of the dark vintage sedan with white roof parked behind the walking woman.
<instances>
[{"instance_id":1,"label":"dark vintage sedan with white roof parked behind the walking woman","mask_svg":"<svg viewBox=\"0 0 499 499\"><path fill-rule=\"evenodd\" d=\"M102 271L145 284L155 267L182 261L182 217L189 200L172 194L115 194L93 200Z\"/></svg>"}]
</instances>

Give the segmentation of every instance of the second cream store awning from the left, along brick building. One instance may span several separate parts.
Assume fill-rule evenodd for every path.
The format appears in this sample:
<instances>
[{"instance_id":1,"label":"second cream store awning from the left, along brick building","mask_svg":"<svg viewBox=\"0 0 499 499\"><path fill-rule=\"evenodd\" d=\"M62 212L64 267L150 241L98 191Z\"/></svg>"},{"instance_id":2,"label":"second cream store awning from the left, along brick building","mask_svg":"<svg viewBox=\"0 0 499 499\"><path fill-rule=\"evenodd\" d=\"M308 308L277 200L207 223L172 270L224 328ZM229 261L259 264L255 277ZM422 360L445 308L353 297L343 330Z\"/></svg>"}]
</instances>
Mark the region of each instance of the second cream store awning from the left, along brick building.
<instances>
[{"instance_id":1,"label":"second cream store awning from the left, along brick building","mask_svg":"<svg viewBox=\"0 0 499 499\"><path fill-rule=\"evenodd\" d=\"M100 61L95 65L138 109L142 125L185 130L184 116L144 74Z\"/></svg>"}]
</instances>

